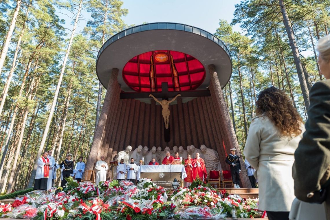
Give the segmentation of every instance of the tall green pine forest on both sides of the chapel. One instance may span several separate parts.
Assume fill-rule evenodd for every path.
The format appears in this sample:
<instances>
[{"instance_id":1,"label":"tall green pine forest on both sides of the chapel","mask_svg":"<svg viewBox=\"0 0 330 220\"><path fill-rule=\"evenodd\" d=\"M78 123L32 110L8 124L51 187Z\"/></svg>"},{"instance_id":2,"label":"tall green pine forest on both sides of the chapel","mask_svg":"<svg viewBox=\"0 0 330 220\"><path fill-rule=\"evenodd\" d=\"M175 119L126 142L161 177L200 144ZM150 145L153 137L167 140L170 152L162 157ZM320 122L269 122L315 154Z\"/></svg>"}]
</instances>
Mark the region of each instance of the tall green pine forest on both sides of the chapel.
<instances>
[{"instance_id":1,"label":"tall green pine forest on both sides of the chapel","mask_svg":"<svg viewBox=\"0 0 330 220\"><path fill-rule=\"evenodd\" d=\"M82 12L90 17L77 28ZM223 92L242 149L266 87L284 90L306 121L309 89L324 79L315 46L328 34L329 13L330 0L251 0L235 5L231 23L219 20L213 32L233 63ZM96 55L132 26L127 14L120 0L0 0L0 193L31 187L46 147L59 161L67 152L88 156L105 95Z\"/></svg>"}]
</instances>

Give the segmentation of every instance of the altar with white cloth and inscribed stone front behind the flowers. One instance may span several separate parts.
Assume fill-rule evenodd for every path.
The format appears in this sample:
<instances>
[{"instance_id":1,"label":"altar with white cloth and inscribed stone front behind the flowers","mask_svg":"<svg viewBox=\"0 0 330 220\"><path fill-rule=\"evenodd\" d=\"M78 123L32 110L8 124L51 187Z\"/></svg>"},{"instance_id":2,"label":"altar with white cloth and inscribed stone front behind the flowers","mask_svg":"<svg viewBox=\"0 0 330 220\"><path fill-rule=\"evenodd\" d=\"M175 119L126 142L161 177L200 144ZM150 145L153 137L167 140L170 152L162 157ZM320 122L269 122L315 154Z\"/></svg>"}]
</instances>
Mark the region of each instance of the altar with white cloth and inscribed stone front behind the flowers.
<instances>
[{"instance_id":1,"label":"altar with white cloth and inscribed stone front behind the flowers","mask_svg":"<svg viewBox=\"0 0 330 220\"><path fill-rule=\"evenodd\" d=\"M141 178L150 178L157 186L172 188L174 178L178 181L187 177L183 165L142 165Z\"/></svg>"}]
</instances>

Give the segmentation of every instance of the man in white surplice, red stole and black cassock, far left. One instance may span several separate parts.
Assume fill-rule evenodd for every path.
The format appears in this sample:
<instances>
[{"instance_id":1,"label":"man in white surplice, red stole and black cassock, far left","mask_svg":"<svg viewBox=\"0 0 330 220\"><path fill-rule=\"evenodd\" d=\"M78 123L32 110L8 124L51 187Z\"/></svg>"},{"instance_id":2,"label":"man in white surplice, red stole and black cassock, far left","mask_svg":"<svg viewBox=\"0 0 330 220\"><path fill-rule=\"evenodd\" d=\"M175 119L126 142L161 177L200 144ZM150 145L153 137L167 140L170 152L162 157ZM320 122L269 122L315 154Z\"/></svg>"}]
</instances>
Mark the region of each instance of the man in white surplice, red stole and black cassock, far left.
<instances>
[{"instance_id":1,"label":"man in white surplice, red stole and black cassock, far left","mask_svg":"<svg viewBox=\"0 0 330 220\"><path fill-rule=\"evenodd\" d=\"M49 159L48 159L48 152L45 151L42 157L39 157L38 159L38 167L37 167L37 173L36 178L34 181L33 189L47 189L47 182L49 178Z\"/></svg>"}]
</instances>

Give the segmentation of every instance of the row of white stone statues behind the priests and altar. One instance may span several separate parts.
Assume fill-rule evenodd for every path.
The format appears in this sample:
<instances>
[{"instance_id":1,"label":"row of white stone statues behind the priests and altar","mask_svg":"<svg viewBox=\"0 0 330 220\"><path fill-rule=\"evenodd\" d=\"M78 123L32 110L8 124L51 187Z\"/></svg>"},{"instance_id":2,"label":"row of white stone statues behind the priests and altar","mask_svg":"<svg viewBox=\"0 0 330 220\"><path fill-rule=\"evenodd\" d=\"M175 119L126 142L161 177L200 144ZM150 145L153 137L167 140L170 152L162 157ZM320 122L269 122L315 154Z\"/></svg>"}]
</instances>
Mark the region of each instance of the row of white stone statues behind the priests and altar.
<instances>
[{"instance_id":1,"label":"row of white stone statues behind the priests and altar","mask_svg":"<svg viewBox=\"0 0 330 220\"><path fill-rule=\"evenodd\" d=\"M212 170L221 170L220 160L218 153L206 147L204 144L201 145L200 149L196 148L194 145L188 145L186 149L183 146L173 146L172 149L166 146L164 150L159 147L153 146L149 151L147 146L139 145L137 148L132 150L132 146L127 146L125 150L118 152L117 161L120 162L121 159L124 160L125 164L128 164L130 158L134 158L135 163L139 163L140 160L144 160L144 164L148 165L152 158L156 159L156 162L159 164L162 163L163 158L166 156L166 151L169 151L172 156L176 152L179 153L179 157L182 157L182 160L187 158L187 154L191 155L191 158L194 158L196 153L199 153L200 157L205 161L205 167L209 173Z\"/></svg>"}]
</instances>

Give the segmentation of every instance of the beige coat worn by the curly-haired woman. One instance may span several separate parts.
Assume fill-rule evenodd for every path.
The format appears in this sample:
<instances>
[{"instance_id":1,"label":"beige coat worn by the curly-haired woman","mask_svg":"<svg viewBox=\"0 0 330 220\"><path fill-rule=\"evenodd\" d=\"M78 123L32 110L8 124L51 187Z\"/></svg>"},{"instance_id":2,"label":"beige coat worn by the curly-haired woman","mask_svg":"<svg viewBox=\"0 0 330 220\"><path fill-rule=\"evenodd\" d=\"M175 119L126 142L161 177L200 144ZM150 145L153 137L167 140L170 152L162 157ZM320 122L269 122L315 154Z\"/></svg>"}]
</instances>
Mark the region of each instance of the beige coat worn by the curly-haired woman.
<instances>
[{"instance_id":1,"label":"beige coat worn by the curly-haired woman","mask_svg":"<svg viewBox=\"0 0 330 220\"><path fill-rule=\"evenodd\" d=\"M294 151L305 131L297 137L283 137L266 116L252 118L244 155L256 170L259 209L290 211L294 196L292 165Z\"/></svg>"}]
</instances>

